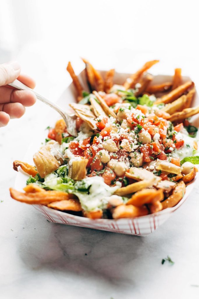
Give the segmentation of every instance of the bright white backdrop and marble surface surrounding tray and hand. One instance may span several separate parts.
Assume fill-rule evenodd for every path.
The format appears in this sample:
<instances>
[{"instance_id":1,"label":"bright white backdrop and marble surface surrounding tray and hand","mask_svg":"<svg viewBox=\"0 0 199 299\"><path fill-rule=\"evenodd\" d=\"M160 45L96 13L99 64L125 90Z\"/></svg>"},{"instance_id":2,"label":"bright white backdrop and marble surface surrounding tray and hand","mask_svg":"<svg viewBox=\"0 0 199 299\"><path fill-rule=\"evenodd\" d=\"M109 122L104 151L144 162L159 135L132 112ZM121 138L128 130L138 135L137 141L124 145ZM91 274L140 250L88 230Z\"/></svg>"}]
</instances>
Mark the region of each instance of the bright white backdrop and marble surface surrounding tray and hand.
<instances>
[{"instance_id":1,"label":"bright white backdrop and marble surface surrounding tray and hand","mask_svg":"<svg viewBox=\"0 0 199 299\"><path fill-rule=\"evenodd\" d=\"M0 0L0 63L18 60L54 101L70 83L68 60L84 67L79 57L122 72L160 59L153 74L181 67L198 87L197 2ZM10 199L12 162L48 111L38 102L0 128L2 298L199 298L198 188L147 238L53 225ZM175 265L161 265L167 254Z\"/></svg>"}]
</instances>

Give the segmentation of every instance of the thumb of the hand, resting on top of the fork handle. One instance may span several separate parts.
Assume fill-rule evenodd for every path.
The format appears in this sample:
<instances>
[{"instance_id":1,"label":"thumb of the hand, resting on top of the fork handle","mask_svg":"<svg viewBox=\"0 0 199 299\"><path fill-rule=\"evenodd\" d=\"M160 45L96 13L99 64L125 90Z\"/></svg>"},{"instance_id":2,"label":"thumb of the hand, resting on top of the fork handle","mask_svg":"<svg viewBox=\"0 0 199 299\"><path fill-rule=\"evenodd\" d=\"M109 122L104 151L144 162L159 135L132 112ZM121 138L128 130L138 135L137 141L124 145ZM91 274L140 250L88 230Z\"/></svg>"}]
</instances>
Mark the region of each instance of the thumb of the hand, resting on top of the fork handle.
<instances>
[{"instance_id":1,"label":"thumb of the hand, resting on top of the fork handle","mask_svg":"<svg viewBox=\"0 0 199 299\"><path fill-rule=\"evenodd\" d=\"M21 66L17 61L0 64L0 86L13 82L20 74Z\"/></svg>"}]
</instances>

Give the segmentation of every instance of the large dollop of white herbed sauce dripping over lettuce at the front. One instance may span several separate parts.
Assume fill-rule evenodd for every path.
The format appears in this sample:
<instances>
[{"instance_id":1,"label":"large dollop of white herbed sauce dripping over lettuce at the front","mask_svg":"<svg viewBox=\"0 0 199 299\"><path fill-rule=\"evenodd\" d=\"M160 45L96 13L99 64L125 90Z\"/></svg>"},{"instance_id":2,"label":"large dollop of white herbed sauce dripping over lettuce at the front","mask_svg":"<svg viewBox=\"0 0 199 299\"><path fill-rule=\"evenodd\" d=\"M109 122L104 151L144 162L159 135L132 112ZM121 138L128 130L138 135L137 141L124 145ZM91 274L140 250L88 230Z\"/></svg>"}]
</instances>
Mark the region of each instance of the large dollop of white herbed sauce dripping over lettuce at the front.
<instances>
[{"instance_id":1,"label":"large dollop of white herbed sauce dripping over lettuce at the front","mask_svg":"<svg viewBox=\"0 0 199 299\"><path fill-rule=\"evenodd\" d=\"M121 183L118 182L114 187L110 187L104 183L104 179L99 176L93 176L83 180L85 183L91 185L89 193L86 192L72 192L74 193L81 203L81 206L84 210L97 210L105 209L108 204L108 198L111 196L117 189L121 187Z\"/></svg>"}]
</instances>

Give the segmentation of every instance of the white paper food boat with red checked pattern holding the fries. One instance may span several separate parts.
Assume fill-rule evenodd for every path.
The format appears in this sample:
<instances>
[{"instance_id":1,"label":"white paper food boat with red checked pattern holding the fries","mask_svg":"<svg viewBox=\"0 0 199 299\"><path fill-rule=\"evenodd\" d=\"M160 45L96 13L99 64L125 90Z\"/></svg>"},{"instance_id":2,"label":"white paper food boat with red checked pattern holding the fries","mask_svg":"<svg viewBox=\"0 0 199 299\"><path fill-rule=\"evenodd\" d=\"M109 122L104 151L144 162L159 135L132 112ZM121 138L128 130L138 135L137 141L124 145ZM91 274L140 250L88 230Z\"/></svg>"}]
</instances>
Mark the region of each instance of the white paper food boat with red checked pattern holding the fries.
<instances>
[{"instance_id":1,"label":"white paper food boat with red checked pattern holding the fries","mask_svg":"<svg viewBox=\"0 0 199 299\"><path fill-rule=\"evenodd\" d=\"M101 71L101 73L104 75L105 71ZM124 81L129 76L130 74L115 72L114 82L115 84L123 84ZM85 90L88 90L85 71L82 71L78 75L78 77ZM190 77L183 77L183 82L186 82L187 80L190 80ZM168 81L172 81L172 76L157 75L154 76L153 84L158 84L158 83L163 83ZM57 104L61 106L63 109L67 110L68 103L74 102L75 99L76 99L76 91L73 84L71 83L68 86L68 88L64 91L64 93L61 95L61 97L58 99ZM198 94L196 93L192 106L197 106L197 105L199 105L199 97ZM54 126L55 121L59 119L59 117L57 113L53 112L52 110L52 115L48 115L47 119L48 121L46 123L43 123L42 125L44 128L45 126L49 125L49 119L51 120L50 125ZM193 119L193 124L196 127L199 127L199 118L197 116L194 116L192 119ZM34 143L31 144L31 146L29 147L23 161L28 162L30 164L33 163L33 158L32 158L33 154L39 149L39 147L41 147L41 142L45 140L46 135L47 135L47 131L41 132L41 136L38 138L38 141L34 141ZM185 202L185 200L187 199L187 197L189 196L189 194L193 189L197 177L198 174L195 180L189 183L189 185L186 187L186 193L183 199L178 203L178 205L176 205L173 208L167 208L158 213L136 217L136 218L89 219L89 218L84 218L81 216L75 216L69 213L53 210L43 205L33 205L33 206L34 208L36 208L36 210L41 212L44 215L44 217L46 217L47 220L49 220L50 222L81 226L85 228L94 228L103 231L112 231L121 234L147 236L148 234L151 234L153 231L155 231L160 225L162 225L171 216L171 214L175 210L177 210L183 204L183 202ZM19 171L16 177L15 188L17 190L19 189L22 190L26 184L26 180L27 180L27 175L24 174L22 171Z\"/></svg>"}]
</instances>

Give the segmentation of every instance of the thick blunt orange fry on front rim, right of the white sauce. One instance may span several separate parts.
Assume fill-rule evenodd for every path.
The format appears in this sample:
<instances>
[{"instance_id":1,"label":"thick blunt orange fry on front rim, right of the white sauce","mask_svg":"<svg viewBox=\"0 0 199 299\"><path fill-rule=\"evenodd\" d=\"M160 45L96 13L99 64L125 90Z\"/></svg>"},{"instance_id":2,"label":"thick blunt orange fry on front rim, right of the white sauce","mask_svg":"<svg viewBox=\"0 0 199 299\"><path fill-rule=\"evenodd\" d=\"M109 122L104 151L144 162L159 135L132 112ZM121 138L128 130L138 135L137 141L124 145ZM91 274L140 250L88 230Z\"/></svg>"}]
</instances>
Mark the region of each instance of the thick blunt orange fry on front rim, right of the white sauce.
<instances>
[{"instance_id":1,"label":"thick blunt orange fry on front rim, right of the white sauce","mask_svg":"<svg viewBox=\"0 0 199 299\"><path fill-rule=\"evenodd\" d=\"M149 212L145 206L135 207L133 205L119 205L113 209L112 217L113 219L119 218L133 218L139 216L145 216Z\"/></svg>"}]
</instances>

